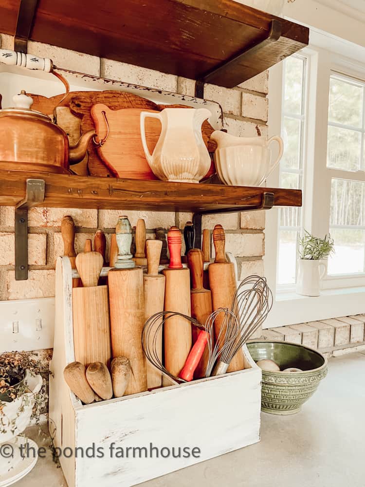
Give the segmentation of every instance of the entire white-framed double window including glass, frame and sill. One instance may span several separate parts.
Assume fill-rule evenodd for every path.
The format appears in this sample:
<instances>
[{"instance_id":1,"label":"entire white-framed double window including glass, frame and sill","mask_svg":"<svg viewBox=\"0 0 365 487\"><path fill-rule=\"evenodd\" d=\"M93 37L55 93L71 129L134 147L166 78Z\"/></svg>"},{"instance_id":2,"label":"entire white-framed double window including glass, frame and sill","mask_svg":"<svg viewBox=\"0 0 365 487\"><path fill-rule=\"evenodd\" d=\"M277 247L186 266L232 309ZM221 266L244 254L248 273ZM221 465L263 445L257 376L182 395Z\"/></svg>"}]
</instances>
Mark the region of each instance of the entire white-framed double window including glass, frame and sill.
<instances>
[{"instance_id":1,"label":"entire white-framed double window including glass, frame and sill","mask_svg":"<svg viewBox=\"0 0 365 487\"><path fill-rule=\"evenodd\" d=\"M265 328L364 313L365 48L351 54L350 45L341 56L312 46L269 72L269 135L281 132L284 155L268 187L302 189L303 206L266 218L274 306ZM321 238L330 232L335 243L318 298L295 293L304 228Z\"/></svg>"}]
</instances>

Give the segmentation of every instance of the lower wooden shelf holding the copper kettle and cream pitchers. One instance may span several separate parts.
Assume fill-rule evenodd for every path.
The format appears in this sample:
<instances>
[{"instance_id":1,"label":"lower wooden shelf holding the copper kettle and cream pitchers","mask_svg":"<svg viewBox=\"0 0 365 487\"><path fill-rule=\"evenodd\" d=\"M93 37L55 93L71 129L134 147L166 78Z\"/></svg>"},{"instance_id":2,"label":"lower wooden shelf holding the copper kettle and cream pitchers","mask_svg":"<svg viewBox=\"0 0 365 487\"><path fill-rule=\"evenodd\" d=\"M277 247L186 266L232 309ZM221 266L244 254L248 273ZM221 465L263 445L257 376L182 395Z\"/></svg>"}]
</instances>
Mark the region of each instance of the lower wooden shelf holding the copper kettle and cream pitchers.
<instances>
[{"instance_id":1,"label":"lower wooden shelf holding the copper kettle and cream pitchers","mask_svg":"<svg viewBox=\"0 0 365 487\"><path fill-rule=\"evenodd\" d=\"M0 205L17 206L25 198L27 179L45 182L44 201L35 206L219 212L260 206L274 193L274 206L301 206L299 189L165 183L67 174L0 171ZM30 205L32 206L32 205Z\"/></svg>"}]
</instances>

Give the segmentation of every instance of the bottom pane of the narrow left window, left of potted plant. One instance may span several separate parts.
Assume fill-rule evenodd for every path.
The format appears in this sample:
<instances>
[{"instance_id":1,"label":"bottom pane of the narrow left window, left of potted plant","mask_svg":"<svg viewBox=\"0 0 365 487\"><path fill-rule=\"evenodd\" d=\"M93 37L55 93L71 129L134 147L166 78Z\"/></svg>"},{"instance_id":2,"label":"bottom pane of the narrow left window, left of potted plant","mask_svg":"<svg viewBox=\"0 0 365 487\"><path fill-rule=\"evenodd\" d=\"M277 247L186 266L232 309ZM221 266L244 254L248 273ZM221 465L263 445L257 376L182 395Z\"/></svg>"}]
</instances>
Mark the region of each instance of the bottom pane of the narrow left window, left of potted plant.
<instances>
[{"instance_id":1,"label":"bottom pane of the narrow left window, left of potted plant","mask_svg":"<svg viewBox=\"0 0 365 487\"><path fill-rule=\"evenodd\" d=\"M297 232L279 232L278 284L295 284Z\"/></svg>"}]
</instances>

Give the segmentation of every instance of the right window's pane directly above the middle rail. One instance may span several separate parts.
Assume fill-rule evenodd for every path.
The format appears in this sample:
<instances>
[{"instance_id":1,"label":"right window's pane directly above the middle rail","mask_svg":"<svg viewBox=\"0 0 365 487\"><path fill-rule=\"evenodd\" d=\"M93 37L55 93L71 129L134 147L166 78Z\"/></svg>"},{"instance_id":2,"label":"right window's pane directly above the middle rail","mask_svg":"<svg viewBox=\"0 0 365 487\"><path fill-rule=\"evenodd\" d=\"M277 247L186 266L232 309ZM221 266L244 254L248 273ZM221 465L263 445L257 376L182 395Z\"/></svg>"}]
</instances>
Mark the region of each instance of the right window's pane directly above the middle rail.
<instances>
[{"instance_id":1,"label":"right window's pane directly above the middle rail","mask_svg":"<svg viewBox=\"0 0 365 487\"><path fill-rule=\"evenodd\" d=\"M357 171L360 169L361 133L328 128L327 167Z\"/></svg>"}]
</instances>

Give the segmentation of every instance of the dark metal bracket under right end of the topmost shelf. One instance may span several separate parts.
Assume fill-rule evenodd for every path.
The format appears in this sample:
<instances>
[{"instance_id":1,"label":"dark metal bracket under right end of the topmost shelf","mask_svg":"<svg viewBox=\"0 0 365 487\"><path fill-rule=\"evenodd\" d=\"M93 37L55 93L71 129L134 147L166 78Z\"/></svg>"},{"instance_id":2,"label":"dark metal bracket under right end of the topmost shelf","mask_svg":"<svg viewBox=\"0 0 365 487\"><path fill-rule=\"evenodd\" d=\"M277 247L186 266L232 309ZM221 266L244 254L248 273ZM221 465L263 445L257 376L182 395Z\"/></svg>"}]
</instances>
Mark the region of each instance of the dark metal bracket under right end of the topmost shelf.
<instances>
[{"instance_id":1,"label":"dark metal bracket under right end of the topmost shelf","mask_svg":"<svg viewBox=\"0 0 365 487\"><path fill-rule=\"evenodd\" d=\"M204 83L212 83L219 85L219 79L224 77L227 71L231 70L237 64L244 63L246 59L249 59L251 56L257 56L262 50L276 42L280 39L282 34L282 24L280 20L272 20L270 31L268 32L267 37L261 39L259 42L254 44L251 47L245 48L241 53L237 54L228 61L224 61L222 64L217 66L216 68L212 69L202 75L199 79L197 79L195 83L195 97L196 98L204 98ZM246 81L246 79L242 79L242 83ZM233 88L233 87L231 87Z\"/></svg>"}]
</instances>

